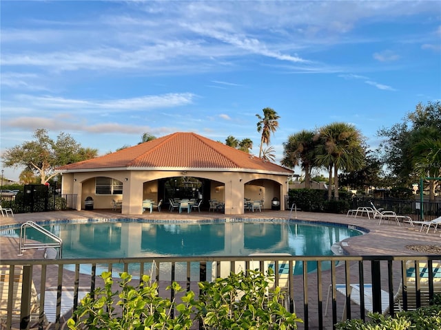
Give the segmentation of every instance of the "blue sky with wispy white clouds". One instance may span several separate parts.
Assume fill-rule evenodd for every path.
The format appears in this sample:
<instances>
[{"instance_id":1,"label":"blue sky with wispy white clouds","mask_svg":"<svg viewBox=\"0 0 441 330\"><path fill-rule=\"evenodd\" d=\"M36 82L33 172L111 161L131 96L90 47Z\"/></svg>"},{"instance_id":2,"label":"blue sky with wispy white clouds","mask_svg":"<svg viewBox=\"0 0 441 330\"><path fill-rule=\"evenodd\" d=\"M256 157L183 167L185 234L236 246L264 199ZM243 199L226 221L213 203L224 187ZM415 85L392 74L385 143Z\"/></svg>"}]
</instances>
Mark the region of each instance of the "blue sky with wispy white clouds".
<instances>
[{"instance_id":1,"label":"blue sky with wispy white clouds","mask_svg":"<svg viewBox=\"0 0 441 330\"><path fill-rule=\"evenodd\" d=\"M254 141L382 126L441 98L438 1L1 1L1 152L35 129L101 155L148 132ZM4 168L18 179L20 170Z\"/></svg>"}]
</instances>

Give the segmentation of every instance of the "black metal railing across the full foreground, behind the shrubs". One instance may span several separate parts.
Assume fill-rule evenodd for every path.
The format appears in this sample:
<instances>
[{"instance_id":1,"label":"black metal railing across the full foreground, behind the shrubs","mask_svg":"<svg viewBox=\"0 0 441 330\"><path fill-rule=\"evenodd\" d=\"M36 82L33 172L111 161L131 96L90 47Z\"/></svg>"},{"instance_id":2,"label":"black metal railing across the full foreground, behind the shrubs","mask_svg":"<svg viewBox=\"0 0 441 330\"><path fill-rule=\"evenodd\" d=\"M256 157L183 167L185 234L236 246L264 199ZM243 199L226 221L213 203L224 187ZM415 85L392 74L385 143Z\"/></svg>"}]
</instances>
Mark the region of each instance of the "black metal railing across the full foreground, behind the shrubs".
<instances>
[{"instance_id":1,"label":"black metal railing across the full foreground, behind the shrubs","mask_svg":"<svg viewBox=\"0 0 441 330\"><path fill-rule=\"evenodd\" d=\"M46 290L48 287L57 291L55 329L61 326L59 304L61 294L72 292L75 308L80 289L93 292L96 287L103 287L99 274L112 272L116 280L119 272L129 272L137 278L142 274L151 274L158 283L159 295L163 298L175 297L173 290L165 287L174 281L181 283L187 291L199 293L199 281L212 281L213 272L220 274L222 267L228 270L246 270L250 265L259 265L263 269L269 261L277 269L281 263L287 271L287 277L276 272L274 284L287 285L290 311L295 311L303 320L298 329L336 329L342 319L367 318L367 311L378 311L394 315L398 310L416 309L428 305L435 293L441 292L440 278L441 256L194 256L194 257L156 257L127 259L61 259L61 260L0 260L0 270L8 269L9 274L21 272L23 290L21 309L18 316L21 329L29 324L31 286L37 289L41 300L38 316L43 322L43 315L48 313L46 306L51 306ZM302 265L302 272L294 275L295 265ZM314 272L309 267L314 265ZM238 268L240 265L241 268ZM254 269L254 268L253 268ZM418 271L420 270L420 271ZM280 272L280 270L279 270ZM229 272L227 272L229 274ZM9 281L14 281L11 275ZM118 281L116 281L118 282ZM73 283L73 286L72 286ZM4 283L3 288L13 284ZM116 289L117 283L115 283ZM135 286L135 285L134 285ZM346 290L351 288L351 290ZM4 296L4 294L3 294ZM72 299L72 298L71 298ZM8 296L8 303L1 306L8 313L5 323L7 328L13 325L13 295ZM65 301L64 304L67 302ZM4 315L4 314L3 314ZM175 314L176 315L176 314ZM196 321L197 322L197 321ZM197 329L194 328L194 329Z\"/></svg>"}]
</instances>

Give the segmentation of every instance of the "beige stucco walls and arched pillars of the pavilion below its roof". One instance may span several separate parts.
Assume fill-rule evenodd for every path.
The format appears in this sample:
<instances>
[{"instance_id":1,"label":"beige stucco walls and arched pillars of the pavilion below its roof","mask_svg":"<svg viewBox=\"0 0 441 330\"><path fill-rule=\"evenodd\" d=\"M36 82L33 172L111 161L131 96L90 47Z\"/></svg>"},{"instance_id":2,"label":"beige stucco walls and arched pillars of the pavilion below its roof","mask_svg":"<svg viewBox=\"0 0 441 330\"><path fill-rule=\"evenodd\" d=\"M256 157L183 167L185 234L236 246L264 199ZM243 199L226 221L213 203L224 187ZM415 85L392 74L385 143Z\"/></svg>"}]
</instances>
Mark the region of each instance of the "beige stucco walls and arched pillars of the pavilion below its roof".
<instances>
[{"instance_id":1,"label":"beige stucco walls and arched pillars of the pavilion below its roof","mask_svg":"<svg viewBox=\"0 0 441 330\"><path fill-rule=\"evenodd\" d=\"M63 173L64 193L78 195L76 210L84 208L85 197L94 199L94 208L111 208L112 199L122 199L122 214L142 214L143 199L156 200L158 179L181 177L181 170L115 170L84 173ZM287 175L245 173L239 171L210 172L187 170L187 177L216 181L211 186L212 199L225 201L225 214L243 214L243 199L264 199L264 207L271 208L271 199L280 199L280 209L285 210ZM95 177L112 177L123 182L123 195L95 195Z\"/></svg>"}]
</instances>

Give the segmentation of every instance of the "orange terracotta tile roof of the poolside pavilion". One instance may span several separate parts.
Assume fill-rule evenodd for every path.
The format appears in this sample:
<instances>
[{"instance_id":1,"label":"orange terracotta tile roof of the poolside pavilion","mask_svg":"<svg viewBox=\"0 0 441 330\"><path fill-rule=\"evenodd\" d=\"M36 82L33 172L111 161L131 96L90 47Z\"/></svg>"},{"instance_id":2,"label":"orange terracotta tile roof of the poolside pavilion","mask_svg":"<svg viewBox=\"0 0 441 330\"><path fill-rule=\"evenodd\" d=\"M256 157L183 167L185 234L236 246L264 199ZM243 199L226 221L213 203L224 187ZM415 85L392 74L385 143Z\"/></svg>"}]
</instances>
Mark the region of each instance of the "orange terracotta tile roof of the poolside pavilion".
<instances>
[{"instance_id":1,"label":"orange terracotta tile roof of the poolside pavilion","mask_svg":"<svg viewBox=\"0 0 441 330\"><path fill-rule=\"evenodd\" d=\"M291 170L209 140L196 133L173 133L94 159L57 168L63 172L96 169L243 169L269 173Z\"/></svg>"}]
</instances>

